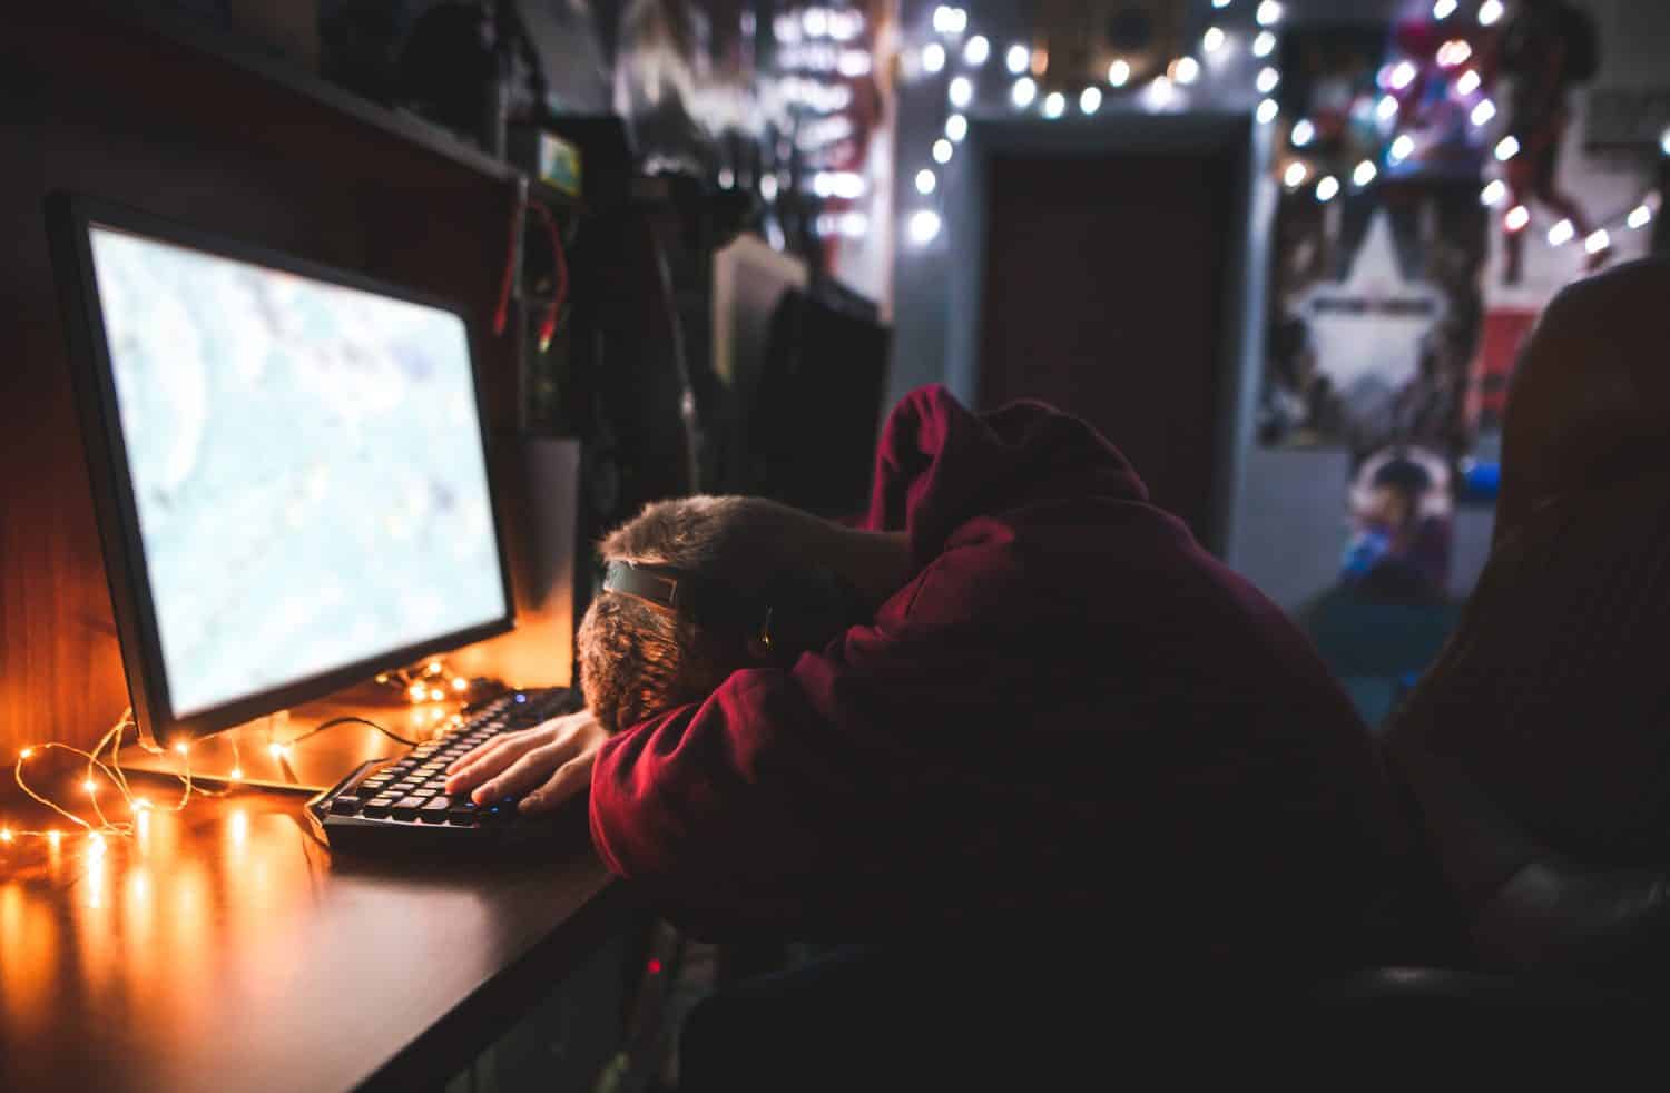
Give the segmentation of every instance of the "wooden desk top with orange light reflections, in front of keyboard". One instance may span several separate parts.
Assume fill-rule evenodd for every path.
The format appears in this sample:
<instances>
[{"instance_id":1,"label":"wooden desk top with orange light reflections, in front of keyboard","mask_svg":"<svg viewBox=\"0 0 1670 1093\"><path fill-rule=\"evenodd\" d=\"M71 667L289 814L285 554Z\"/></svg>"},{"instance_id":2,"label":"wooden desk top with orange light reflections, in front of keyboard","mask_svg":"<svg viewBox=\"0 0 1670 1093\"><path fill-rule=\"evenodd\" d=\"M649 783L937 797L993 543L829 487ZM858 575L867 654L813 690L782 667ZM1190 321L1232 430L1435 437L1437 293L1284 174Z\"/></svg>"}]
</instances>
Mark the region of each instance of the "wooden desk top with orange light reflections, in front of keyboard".
<instances>
[{"instance_id":1,"label":"wooden desk top with orange light reflections, in front of keyboard","mask_svg":"<svg viewBox=\"0 0 1670 1093\"><path fill-rule=\"evenodd\" d=\"M0 1090L438 1086L621 919L578 809L551 861L392 868L332 861L302 799L194 801L102 861L0 844Z\"/></svg>"}]
</instances>

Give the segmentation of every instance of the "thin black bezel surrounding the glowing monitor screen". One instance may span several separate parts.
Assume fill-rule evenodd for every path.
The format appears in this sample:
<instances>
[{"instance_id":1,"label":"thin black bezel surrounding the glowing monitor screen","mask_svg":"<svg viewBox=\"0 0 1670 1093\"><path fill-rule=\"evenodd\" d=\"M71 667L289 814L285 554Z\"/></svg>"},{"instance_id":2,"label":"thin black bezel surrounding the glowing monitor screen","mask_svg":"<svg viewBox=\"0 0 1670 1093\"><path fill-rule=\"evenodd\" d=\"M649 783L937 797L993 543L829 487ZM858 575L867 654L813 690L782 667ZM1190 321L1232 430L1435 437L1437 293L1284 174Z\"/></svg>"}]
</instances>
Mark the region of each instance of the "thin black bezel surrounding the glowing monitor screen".
<instances>
[{"instance_id":1,"label":"thin black bezel surrounding the glowing monitor screen","mask_svg":"<svg viewBox=\"0 0 1670 1093\"><path fill-rule=\"evenodd\" d=\"M464 305L406 285L312 262L282 250L232 239L219 232L204 230L84 194L50 195L47 199L47 225L63 302L70 372L80 409L94 507L99 516L105 577L110 586L129 698L142 739L155 746L172 746L182 739L209 736L281 709L326 698L352 684L364 682L379 672L514 629L516 601L511 589L501 489L496 481L498 476L494 474L494 459L489 447L491 432L488 431L481 369L478 365L478 334L476 324L471 322L469 310ZM92 257L94 225L202 250L217 257L264 265L324 284L434 307L456 315L464 324L464 342L469 354L469 375L476 397L476 424L481 436L481 459L488 479L488 504L493 511L493 539L499 564L499 586L504 596L504 614L478 626L438 634L411 646L391 649L327 672L177 718L169 694L169 676L150 596L150 577L145 564L144 539L140 536L139 509L134 501L134 477L127 461L120 407L117 404L115 374L110 362L110 347L105 340L104 309L99 299L99 280Z\"/></svg>"}]
</instances>

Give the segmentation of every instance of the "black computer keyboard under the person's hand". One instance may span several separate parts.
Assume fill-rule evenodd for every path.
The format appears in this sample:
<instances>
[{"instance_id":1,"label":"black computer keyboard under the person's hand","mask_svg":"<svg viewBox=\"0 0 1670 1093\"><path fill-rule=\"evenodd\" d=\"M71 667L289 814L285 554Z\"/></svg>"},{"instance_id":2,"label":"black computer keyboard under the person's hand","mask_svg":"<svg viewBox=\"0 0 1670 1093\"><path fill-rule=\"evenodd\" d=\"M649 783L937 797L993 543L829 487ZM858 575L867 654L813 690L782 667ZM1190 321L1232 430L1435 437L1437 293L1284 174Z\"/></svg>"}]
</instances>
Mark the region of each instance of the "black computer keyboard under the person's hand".
<instances>
[{"instance_id":1,"label":"black computer keyboard under the person's hand","mask_svg":"<svg viewBox=\"0 0 1670 1093\"><path fill-rule=\"evenodd\" d=\"M516 798L476 804L446 794L453 759L501 733L528 729L576 713L579 691L509 691L466 711L461 726L424 741L397 759L371 759L307 803L314 833L332 851L376 856L519 851L554 841L566 824L521 816ZM561 816L564 809L558 809Z\"/></svg>"}]
</instances>

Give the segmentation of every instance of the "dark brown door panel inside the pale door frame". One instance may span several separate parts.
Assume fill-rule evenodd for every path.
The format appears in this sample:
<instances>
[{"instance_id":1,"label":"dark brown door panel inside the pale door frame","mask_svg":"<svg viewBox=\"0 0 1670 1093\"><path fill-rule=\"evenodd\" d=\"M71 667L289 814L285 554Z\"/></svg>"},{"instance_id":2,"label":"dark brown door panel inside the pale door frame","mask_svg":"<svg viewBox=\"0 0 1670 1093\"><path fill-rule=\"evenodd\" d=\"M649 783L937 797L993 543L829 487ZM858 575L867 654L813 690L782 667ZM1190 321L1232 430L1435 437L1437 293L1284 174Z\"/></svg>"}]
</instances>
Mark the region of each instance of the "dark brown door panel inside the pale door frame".
<instances>
[{"instance_id":1,"label":"dark brown door panel inside the pale door frame","mask_svg":"<svg viewBox=\"0 0 1670 1093\"><path fill-rule=\"evenodd\" d=\"M1000 155L987 187L980 404L1087 419L1207 546L1236 172L1227 152Z\"/></svg>"}]
</instances>

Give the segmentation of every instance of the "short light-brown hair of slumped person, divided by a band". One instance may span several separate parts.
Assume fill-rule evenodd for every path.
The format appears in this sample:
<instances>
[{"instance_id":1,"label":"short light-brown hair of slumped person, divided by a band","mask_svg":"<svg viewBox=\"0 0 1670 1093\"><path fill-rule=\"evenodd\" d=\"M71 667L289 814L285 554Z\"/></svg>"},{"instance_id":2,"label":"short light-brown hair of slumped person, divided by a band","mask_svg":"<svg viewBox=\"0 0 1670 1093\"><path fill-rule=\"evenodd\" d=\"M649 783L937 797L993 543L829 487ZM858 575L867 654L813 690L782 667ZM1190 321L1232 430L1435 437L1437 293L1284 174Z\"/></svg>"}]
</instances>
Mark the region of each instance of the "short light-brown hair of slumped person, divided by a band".
<instances>
[{"instance_id":1,"label":"short light-brown hair of slumped person, divided by a band","mask_svg":"<svg viewBox=\"0 0 1670 1093\"><path fill-rule=\"evenodd\" d=\"M708 581L753 589L785 572L813 542L815 516L760 497L660 501L610 532L603 562L676 566ZM746 639L616 592L603 592L579 624L579 688L615 733L696 703L750 661Z\"/></svg>"}]
</instances>

